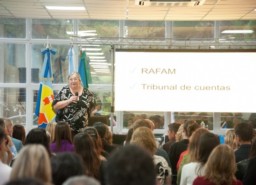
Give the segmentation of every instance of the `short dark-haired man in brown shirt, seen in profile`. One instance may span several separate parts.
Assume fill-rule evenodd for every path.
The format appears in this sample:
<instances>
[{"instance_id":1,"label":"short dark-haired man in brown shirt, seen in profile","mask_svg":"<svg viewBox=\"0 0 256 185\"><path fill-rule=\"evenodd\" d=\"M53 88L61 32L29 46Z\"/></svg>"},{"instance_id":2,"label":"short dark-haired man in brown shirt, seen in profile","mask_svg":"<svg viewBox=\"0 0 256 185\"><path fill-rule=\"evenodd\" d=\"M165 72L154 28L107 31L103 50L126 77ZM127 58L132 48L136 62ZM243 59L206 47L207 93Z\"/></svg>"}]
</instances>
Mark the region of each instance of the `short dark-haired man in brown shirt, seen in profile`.
<instances>
[{"instance_id":1,"label":"short dark-haired man in brown shirt, seen in profile","mask_svg":"<svg viewBox=\"0 0 256 185\"><path fill-rule=\"evenodd\" d=\"M181 123L179 123L179 122L170 123L168 125L167 135L168 135L168 138L170 141L163 144L163 150L165 150L167 153L168 153L172 143L176 142L176 135L177 135L177 132L178 132L180 126L181 126Z\"/></svg>"}]
</instances>

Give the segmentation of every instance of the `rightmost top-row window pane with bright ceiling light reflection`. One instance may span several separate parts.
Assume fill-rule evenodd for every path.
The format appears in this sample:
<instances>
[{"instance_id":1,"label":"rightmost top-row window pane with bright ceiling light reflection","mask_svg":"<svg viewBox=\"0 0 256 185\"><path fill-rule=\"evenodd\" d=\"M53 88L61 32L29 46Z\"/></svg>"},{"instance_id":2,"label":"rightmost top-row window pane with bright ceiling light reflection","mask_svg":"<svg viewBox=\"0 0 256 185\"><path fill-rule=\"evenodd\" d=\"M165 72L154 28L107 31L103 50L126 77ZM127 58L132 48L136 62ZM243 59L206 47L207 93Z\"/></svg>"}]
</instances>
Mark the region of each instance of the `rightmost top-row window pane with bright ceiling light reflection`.
<instances>
[{"instance_id":1,"label":"rightmost top-row window pane with bright ceiling light reflection","mask_svg":"<svg viewBox=\"0 0 256 185\"><path fill-rule=\"evenodd\" d=\"M256 20L220 21L220 38L255 38ZM232 41L232 40L231 40ZM239 41L239 40L234 40Z\"/></svg>"}]
</instances>

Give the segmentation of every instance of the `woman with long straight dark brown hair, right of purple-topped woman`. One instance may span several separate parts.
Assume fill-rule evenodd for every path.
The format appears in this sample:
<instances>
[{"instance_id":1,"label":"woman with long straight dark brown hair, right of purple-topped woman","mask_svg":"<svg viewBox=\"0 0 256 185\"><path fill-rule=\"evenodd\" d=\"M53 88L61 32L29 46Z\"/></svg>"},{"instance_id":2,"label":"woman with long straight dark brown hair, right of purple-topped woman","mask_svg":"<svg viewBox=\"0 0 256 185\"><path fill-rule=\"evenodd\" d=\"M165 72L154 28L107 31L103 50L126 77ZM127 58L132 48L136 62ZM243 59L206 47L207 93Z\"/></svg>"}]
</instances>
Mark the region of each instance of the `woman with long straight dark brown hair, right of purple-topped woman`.
<instances>
[{"instance_id":1,"label":"woman with long straight dark brown hair, right of purple-topped woman","mask_svg":"<svg viewBox=\"0 0 256 185\"><path fill-rule=\"evenodd\" d=\"M75 153L84 161L87 175L96 178L101 184L106 184L107 161L100 160L92 137L87 133L79 133L74 137L74 145Z\"/></svg>"}]
</instances>

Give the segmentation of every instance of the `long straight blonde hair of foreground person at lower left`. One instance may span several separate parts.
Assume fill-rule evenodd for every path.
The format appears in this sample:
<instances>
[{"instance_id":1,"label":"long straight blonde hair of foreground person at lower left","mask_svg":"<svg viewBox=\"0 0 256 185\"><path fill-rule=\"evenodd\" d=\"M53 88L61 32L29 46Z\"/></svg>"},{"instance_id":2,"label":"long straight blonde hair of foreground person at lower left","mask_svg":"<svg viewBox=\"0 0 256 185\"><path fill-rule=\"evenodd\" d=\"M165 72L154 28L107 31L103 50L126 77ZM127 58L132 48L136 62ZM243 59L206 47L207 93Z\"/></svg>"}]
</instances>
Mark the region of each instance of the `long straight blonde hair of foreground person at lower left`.
<instances>
[{"instance_id":1,"label":"long straight blonde hair of foreground person at lower left","mask_svg":"<svg viewBox=\"0 0 256 185\"><path fill-rule=\"evenodd\" d=\"M20 150L10 180L24 177L38 178L45 183L52 181L50 157L43 145L27 144Z\"/></svg>"}]
</instances>

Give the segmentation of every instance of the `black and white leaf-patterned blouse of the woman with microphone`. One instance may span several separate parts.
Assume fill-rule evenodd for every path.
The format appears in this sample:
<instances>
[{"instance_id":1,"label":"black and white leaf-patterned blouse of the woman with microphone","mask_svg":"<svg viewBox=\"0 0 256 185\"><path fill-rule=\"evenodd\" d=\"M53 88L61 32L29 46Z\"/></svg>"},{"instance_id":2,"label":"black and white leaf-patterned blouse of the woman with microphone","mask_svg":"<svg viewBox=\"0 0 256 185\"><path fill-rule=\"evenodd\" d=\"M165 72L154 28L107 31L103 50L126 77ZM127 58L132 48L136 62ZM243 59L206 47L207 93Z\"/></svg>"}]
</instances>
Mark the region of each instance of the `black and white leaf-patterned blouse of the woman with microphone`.
<instances>
[{"instance_id":1,"label":"black and white leaf-patterned blouse of the woman with microphone","mask_svg":"<svg viewBox=\"0 0 256 185\"><path fill-rule=\"evenodd\" d=\"M71 96L74 95L71 93L69 87L63 87L56 95L52 106L59 101L68 100ZM92 107L94 107L93 95L88 89L84 88L82 95L79 96L77 105L75 106L75 103L71 103L60 109L57 112L55 120L56 122L66 121L72 131L83 132L83 128L88 125L88 114L90 114Z\"/></svg>"}]
</instances>

